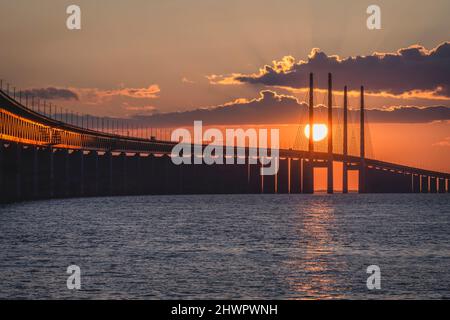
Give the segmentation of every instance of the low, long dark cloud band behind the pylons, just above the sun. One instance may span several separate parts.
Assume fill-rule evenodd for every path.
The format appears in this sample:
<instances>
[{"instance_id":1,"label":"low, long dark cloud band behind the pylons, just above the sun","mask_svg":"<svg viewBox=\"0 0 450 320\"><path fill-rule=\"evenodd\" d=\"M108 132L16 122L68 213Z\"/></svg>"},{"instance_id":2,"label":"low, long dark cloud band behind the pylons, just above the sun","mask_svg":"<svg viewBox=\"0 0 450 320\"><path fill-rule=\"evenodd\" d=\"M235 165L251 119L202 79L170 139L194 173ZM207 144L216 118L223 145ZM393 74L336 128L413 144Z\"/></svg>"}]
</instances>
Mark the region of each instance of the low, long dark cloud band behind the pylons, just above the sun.
<instances>
[{"instance_id":1,"label":"low, long dark cloud band behind the pylons, just above the sun","mask_svg":"<svg viewBox=\"0 0 450 320\"><path fill-rule=\"evenodd\" d=\"M342 108L335 108L335 117L342 119ZM316 121L325 121L327 109L315 108ZM350 111L350 118L358 119L357 110ZM449 107L394 107L390 109L367 110L370 122L421 123L450 120ZM185 112L158 113L151 116L135 117L136 120L151 126L176 127L189 126L195 120L205 125L248 125L248 124L299 124L308 119L308 107L292 96L278 95L265 90L253 100L237 100L222 106L195 109Z\"/></svg>"}]
</instances>

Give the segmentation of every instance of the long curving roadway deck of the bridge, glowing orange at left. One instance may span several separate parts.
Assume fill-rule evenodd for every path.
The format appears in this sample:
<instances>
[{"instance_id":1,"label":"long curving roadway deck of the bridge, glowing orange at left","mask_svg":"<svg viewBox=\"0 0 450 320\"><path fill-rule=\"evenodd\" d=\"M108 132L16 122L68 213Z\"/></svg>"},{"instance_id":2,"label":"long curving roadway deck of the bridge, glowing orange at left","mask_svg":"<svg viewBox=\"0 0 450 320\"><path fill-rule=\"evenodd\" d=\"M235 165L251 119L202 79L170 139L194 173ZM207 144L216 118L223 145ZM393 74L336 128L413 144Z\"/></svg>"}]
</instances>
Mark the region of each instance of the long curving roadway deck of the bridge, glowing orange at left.
<instances>
[{"instance_id":1,"label":"long curving roadway deck of the bridge, glowing orange at left","mask_svg":"<svg viewBox=\"0 0 450 320\"><path fill-rule=\"evenodd\" d=\"M159 154L170 154L175 145L171 141L121 136L57 121L27 108L3 91L0 91L0 117L0 140L4 142L52 146L57 149ZM246 148L245 153L249 154L249 152L250 150ZM310 157L310 153L302 150L280 149L280 157L307 159ZM329 159L329 155L325 152L314 152L313 158L326 161ZM333 161L356 165L361 163L361 158L357 156L344 158L341 154L333 154L332 159ZM414 168L375 159L366 158L364 161L367 166L376 168L450 179L450 173Z\"/></svg>"}]
</instances>

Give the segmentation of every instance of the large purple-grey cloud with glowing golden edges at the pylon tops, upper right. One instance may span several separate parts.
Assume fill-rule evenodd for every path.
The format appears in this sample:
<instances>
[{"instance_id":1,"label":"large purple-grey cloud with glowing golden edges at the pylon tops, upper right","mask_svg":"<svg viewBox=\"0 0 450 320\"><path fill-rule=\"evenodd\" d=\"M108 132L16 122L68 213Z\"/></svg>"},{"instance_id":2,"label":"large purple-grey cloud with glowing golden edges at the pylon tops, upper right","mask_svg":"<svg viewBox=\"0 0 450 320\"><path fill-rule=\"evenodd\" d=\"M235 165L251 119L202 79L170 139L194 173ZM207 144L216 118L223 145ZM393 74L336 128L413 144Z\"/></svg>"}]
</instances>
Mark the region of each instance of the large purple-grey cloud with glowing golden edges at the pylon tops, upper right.
<instances>
[{"instance_id":1,"label":"large purple-grey cloud with glowing golden edges at the pylon tops, upper right","mask_svg":"<svg viewBox=\"0 0 450 320\"><path fill-rule=\"evenodd\" d=\"M308 74L320 77L316 84L326 88L327 73L333 73L335 88L365 85L372 93L443 96L450 100L450 42L434 49L414 45L395 53L340 58L313 49L306 61L292 56L273 61L255 74L211 75L212 84L262 84L291 89L308 87Z\"/></svg>"}]
</instances>

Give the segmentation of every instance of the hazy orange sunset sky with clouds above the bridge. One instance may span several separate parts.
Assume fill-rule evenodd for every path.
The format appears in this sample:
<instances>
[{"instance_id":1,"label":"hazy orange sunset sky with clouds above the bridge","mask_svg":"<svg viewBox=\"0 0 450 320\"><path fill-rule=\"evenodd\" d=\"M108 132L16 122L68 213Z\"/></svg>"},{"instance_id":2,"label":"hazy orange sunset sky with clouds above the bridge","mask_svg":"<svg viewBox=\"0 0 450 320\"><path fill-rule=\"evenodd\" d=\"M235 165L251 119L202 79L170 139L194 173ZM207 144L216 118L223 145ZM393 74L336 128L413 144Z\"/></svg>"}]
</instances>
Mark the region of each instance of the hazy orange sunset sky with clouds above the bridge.
<instances>
[{"instance_id":1,"label":"hazy orange sunset sky with clouds above the bridge","mask_svg":"<svg viewBox=\"0 0 450 320\"><path fill-rule=\"evenodd\" d=\"M71 4L81 30L66 28ZM381 30L366 27L372 4ZM393 112L372 113L375 156L450 171L448 0L0 0L0 8L0 78L64 108L155 126L183 125L171 122L193 113L210 124L293 125L307 74L325 88L333 72L335 106L348 85L357 108L365 85L369 109ZM412 137L417 148L395 152Z\"/></svg>"}]
</instances>

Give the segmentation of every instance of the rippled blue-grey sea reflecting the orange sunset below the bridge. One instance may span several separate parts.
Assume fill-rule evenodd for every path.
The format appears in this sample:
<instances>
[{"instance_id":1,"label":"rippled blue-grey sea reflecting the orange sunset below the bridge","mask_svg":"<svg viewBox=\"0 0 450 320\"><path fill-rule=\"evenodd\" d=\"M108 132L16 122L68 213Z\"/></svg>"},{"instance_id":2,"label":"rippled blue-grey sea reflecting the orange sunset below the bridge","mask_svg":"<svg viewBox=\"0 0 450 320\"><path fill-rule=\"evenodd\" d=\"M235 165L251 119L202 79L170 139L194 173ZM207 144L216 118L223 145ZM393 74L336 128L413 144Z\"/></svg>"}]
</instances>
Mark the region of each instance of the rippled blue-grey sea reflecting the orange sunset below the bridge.
<instances>
[{"instance_id":1,"label":"rippled blue-grey sea reflecting the orange sunset below the bridge","mask_svg":"<svg viewBox=\"0 0 450 320\"><path fill-rule=\"evenodd\" d=\"M450 299L450 196L30 202L0 207L0 249L0 298Z\"/></svg>"}]
</instances>

